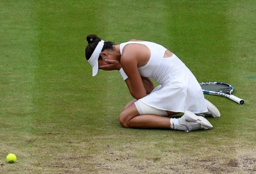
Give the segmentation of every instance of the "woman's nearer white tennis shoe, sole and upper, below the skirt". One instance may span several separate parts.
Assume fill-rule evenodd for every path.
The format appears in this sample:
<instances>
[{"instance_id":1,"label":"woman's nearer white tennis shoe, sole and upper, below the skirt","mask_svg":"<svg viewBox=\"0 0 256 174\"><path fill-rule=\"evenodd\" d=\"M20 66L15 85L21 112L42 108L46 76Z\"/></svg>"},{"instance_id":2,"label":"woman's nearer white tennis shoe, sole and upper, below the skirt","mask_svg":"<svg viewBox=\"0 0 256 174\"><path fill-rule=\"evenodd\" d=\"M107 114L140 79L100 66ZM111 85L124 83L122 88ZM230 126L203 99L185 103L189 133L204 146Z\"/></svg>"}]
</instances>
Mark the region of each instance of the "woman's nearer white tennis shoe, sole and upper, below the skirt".
<instances>
[{"instance_id":1,"label":"woman's nearer white tennis shoe, sole and upper, below the skirt","mask_svg":"<svg viewBox=\"0 0 256 174\"><path fill-rule=\"evenodd\" d=\"M184 115L178 119L179 124L186 126L187 131L212 129L212 124L203 116L197 116L193 112L186 111Z\"/></svg>"}]
</instances>

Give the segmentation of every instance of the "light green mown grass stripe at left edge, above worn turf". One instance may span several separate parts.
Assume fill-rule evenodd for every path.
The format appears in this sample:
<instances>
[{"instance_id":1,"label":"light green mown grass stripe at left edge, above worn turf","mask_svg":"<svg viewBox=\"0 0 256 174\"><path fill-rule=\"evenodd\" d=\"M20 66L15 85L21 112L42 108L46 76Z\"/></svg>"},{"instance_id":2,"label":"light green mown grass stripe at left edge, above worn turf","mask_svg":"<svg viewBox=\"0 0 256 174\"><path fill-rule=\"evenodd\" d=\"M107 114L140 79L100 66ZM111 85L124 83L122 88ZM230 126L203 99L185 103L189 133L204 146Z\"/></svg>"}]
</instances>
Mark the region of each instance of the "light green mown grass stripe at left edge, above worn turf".
<instances>
[{"instance_id":1,"label":"light green mown grass stripe at left edge, above worn turf","mask_svg":"<svg viewBox=\"0 0 256 174\"><path fill-rule=\"evenodd\" d=\"M1 2L1 115L3 119L13 117L13 124L20 124L24 129L34 112L32 103L34 71L36 59L34 54L33 3L13 4ZM20 10L23 9L23 10ZM29 124L28 124L29 125Z\"/></svg>"}]
</instances>

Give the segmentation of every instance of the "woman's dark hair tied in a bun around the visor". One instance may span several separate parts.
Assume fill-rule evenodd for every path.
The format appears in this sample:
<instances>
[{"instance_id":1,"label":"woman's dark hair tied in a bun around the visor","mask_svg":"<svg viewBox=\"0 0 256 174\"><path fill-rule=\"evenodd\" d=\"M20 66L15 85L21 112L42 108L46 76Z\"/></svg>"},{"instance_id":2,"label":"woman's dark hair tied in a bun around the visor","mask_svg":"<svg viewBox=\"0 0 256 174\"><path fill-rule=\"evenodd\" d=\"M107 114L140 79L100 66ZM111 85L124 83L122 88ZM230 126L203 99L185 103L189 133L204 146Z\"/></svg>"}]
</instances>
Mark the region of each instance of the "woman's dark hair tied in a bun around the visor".
<instances>
[{"instance_id":1,"label":"woman's dark hair tied in a bun around the visor","mask_svg":"<svg viewBox=\"0 0 256 174\"><path fill-rule=\"evenodd\" d=\"M87 42L88 42L88 46L85 48L85 58L86 58L86 60L89 60L89 58L93 54L93 51L95 50L97 44L102 39L100 39L97 35L93 35L93 34L87 35L86 39L87 39ZM102 48L102 51L103 50L113 50L113 45L114 45L114 42L111 42L111 41L104 42L104 46ZM101 59L101 58L102 57L99 56L99 59Z\"/></svg>"}]
</instances>

